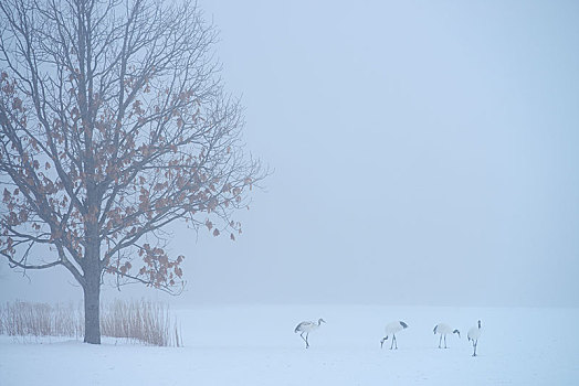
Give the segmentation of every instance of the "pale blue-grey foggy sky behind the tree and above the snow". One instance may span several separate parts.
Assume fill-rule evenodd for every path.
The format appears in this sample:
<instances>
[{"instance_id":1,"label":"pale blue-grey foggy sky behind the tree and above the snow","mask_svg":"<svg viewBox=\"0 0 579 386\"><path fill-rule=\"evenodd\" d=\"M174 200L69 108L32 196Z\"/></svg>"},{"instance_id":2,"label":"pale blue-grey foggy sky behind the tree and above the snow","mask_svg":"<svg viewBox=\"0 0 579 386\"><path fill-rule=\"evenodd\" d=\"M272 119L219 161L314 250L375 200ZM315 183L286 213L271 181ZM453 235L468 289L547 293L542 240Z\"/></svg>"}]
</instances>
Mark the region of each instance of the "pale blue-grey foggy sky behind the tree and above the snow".
<instances>
[{"instance_id":1,"label":"pale blue-grey foggy sky behind the tree and above the snow","mask_svg":"<svg viewBox=\"0 0 579 386\"><path fill-rule=\"evenodd\" d=\"M274 172L236 242L175 229L171 301L579 305L579 3L200 7ZM1 300L69 275L2 261Z\"/></svg>"}]
</instances>

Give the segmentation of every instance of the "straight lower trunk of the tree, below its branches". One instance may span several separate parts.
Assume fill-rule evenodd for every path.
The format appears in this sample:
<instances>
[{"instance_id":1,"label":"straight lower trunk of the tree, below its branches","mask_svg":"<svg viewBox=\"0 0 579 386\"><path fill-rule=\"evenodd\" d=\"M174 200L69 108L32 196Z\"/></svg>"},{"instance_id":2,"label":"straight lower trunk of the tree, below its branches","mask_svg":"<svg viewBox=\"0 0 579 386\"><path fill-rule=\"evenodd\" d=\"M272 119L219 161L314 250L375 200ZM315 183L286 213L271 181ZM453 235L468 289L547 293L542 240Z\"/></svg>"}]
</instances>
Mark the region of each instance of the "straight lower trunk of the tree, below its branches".
<instances>
[{"instance_id":1,"label":"straight lower trunk of the tree, below its branches","mask_svg":"<svg viewBox=\"0 0 579 386\"><path fill-rule=\"evenodd\" d=\"M101 344L101 274L85 275L84 342ZM96 274L96 275L95 275Z\"/></svg>"}]
</instances>

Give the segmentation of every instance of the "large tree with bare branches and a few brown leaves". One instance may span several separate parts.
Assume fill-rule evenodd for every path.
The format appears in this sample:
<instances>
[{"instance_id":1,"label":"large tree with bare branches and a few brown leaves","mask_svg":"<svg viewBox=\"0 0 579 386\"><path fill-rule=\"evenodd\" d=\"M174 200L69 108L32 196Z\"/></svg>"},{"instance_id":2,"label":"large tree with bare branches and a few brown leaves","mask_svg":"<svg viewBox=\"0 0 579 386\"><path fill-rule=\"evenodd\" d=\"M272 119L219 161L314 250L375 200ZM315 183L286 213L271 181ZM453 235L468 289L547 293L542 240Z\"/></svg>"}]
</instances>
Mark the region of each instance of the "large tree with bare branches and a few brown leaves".
<instances>
[{"instance_id":1,"label":"large tree with bare branches and a few brown leaves","mask_svg":"<svg viewBox=\"0 0 579 386\"><path fill-rule=\"evenodd\" d=\"M178 290L164 228L234 239L230 215L266 173L197 4L2 0L0 31L0 254L71 271L84 341L101 343L104 275Z\"/></svg>"}]
</instances>

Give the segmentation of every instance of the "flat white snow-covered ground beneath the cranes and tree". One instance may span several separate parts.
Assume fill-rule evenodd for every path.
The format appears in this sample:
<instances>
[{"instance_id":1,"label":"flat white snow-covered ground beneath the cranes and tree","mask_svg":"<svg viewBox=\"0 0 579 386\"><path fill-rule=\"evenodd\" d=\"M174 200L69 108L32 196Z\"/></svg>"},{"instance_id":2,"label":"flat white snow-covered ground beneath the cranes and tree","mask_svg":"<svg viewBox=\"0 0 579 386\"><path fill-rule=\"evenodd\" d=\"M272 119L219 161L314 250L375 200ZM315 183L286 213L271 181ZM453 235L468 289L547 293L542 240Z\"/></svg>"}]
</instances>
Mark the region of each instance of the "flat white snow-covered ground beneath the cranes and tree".
<instances>
[{"instance_id":1,"label":"flat white snow-covered ground beneath the cranes and tree","mask_svg":"<svg viewBox=\"0 0 579 386\"><path fill-rule=\"evenodd\" d=\"M0 336L0 385L579 385L579 309L249 305L176 310L185 347ZM305 350L295 325L324 318ZM478 356L467 330L481 319ZM380 350L402 320L399 350ZM439 350L439 322L461 331Z\"/></svg>"}]
</instances>

